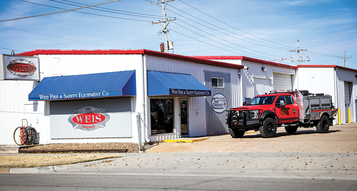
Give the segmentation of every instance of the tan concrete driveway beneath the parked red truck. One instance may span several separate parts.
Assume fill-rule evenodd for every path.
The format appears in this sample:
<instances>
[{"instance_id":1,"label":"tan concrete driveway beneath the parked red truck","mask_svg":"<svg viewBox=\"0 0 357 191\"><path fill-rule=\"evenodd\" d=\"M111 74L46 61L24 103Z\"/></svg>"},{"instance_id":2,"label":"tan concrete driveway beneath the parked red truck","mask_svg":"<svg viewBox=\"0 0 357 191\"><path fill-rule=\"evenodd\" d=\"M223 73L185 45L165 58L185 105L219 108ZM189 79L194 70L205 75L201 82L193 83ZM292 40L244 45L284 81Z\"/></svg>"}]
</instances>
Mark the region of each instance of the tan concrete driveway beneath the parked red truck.
<instances>
[{"instance_id":1,"label":"tan concrete driveway beneath the parked red truck","mask_svg":"<svg viewBox=\"0 0 357 191\"><path fill-rule=\"evenodd\" d=\"M298 128L288 134L279 127L273 138L262 138L259 132L248 132L242 138L230 135L207 136L208 139L193 143L163 142L145 152L193 152L193 153L357 153L357 123L334 125L326 134L316 128ZM200 137L201 138L201 137Z\"/></svg>"}]
</instances>

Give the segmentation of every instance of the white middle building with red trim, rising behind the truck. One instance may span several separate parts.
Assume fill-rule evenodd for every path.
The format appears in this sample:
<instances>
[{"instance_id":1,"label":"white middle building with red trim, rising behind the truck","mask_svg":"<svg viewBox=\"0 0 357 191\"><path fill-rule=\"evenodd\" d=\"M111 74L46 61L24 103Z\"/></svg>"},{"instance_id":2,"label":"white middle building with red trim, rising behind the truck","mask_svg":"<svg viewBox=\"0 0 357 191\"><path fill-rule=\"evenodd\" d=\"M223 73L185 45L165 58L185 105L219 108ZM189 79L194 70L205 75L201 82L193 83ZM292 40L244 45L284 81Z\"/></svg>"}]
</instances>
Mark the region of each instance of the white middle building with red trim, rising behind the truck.
<instances>
[{"instance_id":1,"label":"white middle building with red trim, rising behind the truck","mask_svg":"<svg viewBox=\"0 0 357 191\"><path fill-rule=\"evenodd\" d=\"M279 64L245 56L195 57L244 65L244 69L240 71L242 85L241 96L243 96L243 102L249 101L256 95L269 93L271 90L298 88L296 86L296 66Z\"/></svg>"}]
</instances>

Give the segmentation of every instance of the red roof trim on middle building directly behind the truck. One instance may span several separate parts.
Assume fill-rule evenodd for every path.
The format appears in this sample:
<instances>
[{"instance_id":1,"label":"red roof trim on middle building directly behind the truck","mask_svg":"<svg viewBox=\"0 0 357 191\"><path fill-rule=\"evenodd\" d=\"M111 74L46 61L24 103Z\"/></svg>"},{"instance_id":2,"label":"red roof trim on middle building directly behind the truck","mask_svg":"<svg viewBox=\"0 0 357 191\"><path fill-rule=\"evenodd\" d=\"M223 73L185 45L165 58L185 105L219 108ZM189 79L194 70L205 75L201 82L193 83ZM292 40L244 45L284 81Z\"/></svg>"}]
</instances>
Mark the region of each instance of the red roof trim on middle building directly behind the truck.
<instances>
[{"instance_id":1,"label":"red roof trim on middle building directly behind the truck","mask_svg":"<svg viewBox=\"0 0 357 191\"><path fill-rule=\"evenodd\" d=\"M279 64L276 62L270 62L270 61L260 60L260 59L256 59L256 58L246 57L246 56L219 55L219 56L193 56L193 57L210 59L210 60L211 59L212 60L245 60L245 61L258 62L258 63L262 63L262 64L268 64L268 65L272 65L272 66L279 66L279 67L283 67L283 68L291 68L291 69L297 70L296 66L291 66L291 65L287 65L287 64Z\"/></svg>"}]
</instances>

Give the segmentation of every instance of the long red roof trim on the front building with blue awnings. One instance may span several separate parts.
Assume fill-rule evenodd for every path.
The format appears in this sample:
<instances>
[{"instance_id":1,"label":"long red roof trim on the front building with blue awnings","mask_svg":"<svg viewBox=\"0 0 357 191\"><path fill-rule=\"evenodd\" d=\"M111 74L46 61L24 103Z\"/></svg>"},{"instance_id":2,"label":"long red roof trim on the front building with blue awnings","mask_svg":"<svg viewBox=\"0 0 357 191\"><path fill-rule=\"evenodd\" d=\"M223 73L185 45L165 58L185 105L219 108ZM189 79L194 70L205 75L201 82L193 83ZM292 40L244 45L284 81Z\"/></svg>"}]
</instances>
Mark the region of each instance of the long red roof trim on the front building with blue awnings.
<instances>
[{"instance_id":1,"label":"long red roof trim on the front building with blue awnings","mask_svg":"<svg viewBox=\"0 0 357 191\"><path fill-rule=\"evenodd\" d=\"M184 56L184 55L173 55L168 53L161 53L157 51L150 51L145 49L140 50L35 50L26 53L20 53L17 55L152 55L158 57L172 58L178 60L185 60L191 62L197 62L200 64L221 66L227 68L237 68L242 69L244 66L231 64L226 62L213 61L203 58L196 58L192 56Z\"/></svg>"}]
</instances>

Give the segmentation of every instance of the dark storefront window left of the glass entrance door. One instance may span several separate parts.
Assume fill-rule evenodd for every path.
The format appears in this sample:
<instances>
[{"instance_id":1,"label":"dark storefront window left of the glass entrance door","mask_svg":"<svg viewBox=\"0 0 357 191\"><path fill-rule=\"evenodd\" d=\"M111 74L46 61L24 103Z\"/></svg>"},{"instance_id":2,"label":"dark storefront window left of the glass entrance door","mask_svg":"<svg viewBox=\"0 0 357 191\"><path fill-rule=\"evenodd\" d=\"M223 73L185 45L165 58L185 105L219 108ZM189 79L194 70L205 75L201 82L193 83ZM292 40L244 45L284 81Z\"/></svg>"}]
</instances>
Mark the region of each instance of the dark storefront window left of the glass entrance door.
<instances>
[{"instance_id":1,"label":"dark storefront window left of the glass entrance door","mask_svg":"<svg viewBox=\"0 0 357 191\"><path fill-rule=\"evenodd\" d=\"M150 99L151 135L173 133L173 99Z\"/></svg>"}]
</instances>

